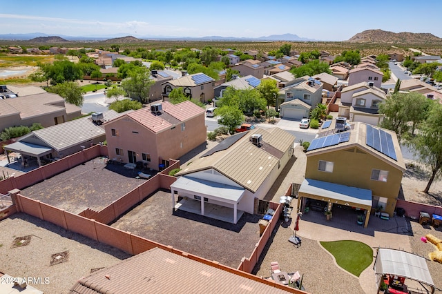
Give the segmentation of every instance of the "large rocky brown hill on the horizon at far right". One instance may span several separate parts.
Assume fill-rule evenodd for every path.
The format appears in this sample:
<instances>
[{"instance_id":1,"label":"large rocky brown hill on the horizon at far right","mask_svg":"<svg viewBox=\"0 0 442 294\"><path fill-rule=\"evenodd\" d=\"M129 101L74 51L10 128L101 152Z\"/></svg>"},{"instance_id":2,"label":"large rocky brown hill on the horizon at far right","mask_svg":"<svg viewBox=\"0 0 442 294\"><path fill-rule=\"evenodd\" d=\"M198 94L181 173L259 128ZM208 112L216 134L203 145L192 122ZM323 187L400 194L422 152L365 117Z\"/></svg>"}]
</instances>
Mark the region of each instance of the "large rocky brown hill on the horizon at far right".
<instances>
[{"instance_id":1,"label":"large rocky brown hill on the horizon at far right","mask_svg":"<svg viewBox=\"0 0 442 294\"><path fill-rule=\"evenodd\" d=\"M347 40L350 43L442 43L442 39L430 33L387 32L365 30Z\"/></svg>"}]
</instances>

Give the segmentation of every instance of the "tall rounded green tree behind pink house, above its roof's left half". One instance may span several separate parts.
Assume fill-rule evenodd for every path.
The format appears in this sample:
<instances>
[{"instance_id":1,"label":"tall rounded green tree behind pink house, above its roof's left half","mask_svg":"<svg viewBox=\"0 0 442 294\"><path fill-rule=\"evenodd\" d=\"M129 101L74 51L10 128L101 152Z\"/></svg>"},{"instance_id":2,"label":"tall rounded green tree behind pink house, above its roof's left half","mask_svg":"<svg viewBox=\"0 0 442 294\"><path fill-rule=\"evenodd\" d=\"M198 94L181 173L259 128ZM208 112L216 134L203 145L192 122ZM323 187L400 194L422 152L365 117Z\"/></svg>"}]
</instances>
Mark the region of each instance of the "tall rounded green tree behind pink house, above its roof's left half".
<instances>
[{"instance_id":1,"label":"tall rounded green tree behind pink house, above its roof's left half","mask_svg":"<svg viewBox=\"0 0 442 294\"><path fill-rule=\"evenodd\" d=\"M136 66L128 72L128 77L122 81L122 88L131 97L140 99L142 104L148 103L149 90L155 83L151 79L151 73L146 67Z\"/></svg>"}]
</instances>

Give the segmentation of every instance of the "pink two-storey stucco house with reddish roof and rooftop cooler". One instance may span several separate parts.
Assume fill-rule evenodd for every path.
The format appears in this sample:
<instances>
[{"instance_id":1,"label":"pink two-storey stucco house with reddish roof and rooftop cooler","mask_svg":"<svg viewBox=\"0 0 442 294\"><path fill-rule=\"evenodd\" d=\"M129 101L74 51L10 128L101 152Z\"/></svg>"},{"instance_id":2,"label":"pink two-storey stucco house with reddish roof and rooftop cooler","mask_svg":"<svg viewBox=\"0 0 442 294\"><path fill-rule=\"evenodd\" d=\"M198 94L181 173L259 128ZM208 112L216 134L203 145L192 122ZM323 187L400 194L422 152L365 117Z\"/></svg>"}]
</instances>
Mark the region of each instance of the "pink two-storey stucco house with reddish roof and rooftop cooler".
<instances>
[{"instance_id":1,"label":"pink two-storey stucco house with reddish roof and rooftop cooler","mask_svg":"<svg viewBox=\"0 0 442 294\"><path fill-rule=\"evenodd\" d=\"M205 110L191 101L151 104L106 122L109 158L160 170L206 141Z\"/></svg>"}]
</instances>

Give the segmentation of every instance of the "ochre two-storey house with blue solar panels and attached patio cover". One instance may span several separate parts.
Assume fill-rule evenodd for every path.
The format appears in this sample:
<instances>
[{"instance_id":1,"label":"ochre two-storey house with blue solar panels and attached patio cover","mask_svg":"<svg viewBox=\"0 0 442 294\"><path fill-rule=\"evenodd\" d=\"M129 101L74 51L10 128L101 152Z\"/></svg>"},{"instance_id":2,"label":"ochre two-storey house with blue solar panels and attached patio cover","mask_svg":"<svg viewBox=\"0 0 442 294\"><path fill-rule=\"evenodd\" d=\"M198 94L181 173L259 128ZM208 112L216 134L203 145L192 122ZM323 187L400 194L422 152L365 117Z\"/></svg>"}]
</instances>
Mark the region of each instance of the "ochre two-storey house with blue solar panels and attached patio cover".
<instances>
[{"instance_id":1,"label":"ochre two-storey house with blue solar panels and attached patio cover","mask_svg":"<svg viewBox=\"0 0 442 294\"><path fill-rule=\"evenodd\" d=\"M357 122L346 132L325 133L307 149L305 180L298 192L301 211L309 199L334 214L361 209L367 212L367 227L371 211L378 206L393 216L405 170L401 147L391 130ZM356 217L349 221L356 222Z\"/></svg>"}]
</instances>

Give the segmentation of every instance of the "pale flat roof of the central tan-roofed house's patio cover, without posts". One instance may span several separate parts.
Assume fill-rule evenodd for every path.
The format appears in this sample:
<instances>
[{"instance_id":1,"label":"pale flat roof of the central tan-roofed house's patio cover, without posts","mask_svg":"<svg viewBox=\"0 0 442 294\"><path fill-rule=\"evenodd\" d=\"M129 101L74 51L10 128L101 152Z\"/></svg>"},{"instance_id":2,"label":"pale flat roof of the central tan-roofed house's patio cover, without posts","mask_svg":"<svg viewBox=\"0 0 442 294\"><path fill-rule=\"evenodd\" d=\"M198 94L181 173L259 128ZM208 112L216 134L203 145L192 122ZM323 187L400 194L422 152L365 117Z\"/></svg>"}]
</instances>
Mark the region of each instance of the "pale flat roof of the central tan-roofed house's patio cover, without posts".
<instances>
[{"instance_id":1,"label":"pale flat roof of the central tan-roofed house's patio cover, without posts","mask_svg":"<svg viewBox=\"0 0 442 294\"><path fill-rule=\"evenodd\" d=\"M179 177L171 188L180 190L198 191L202 195L212 196L221 202L237 203L244 195L244 188L238 188L226 184L196 179L194 177Z\"/></svg>"}]
</instances>

